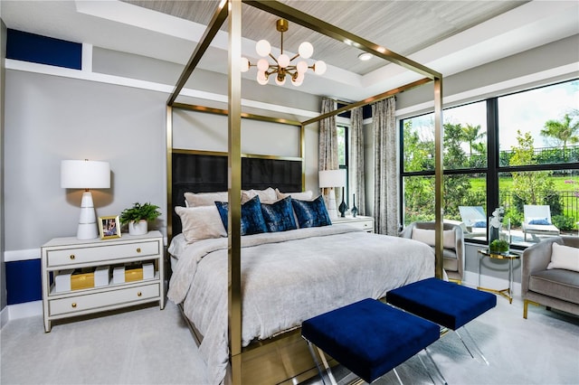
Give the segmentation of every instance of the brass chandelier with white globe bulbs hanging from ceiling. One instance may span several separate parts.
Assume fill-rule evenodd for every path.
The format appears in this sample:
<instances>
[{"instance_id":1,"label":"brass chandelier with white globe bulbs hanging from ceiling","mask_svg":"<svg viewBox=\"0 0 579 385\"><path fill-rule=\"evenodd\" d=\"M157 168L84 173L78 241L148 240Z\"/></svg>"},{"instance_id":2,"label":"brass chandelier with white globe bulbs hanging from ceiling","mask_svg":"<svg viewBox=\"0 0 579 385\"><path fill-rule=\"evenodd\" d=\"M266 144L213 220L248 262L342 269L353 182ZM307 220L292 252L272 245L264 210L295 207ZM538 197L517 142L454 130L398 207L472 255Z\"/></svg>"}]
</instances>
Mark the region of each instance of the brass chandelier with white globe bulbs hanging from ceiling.
<instances>
[{"instance_id":1,"label":"brass chandelier with white globe bulbs hanging from ceiling","mask_svg":"<svg viewBox=\"0 0 579 385\"><path fill-rule=\"evenodd\" d=\"M323 75L326 72L326 63L324 61L316 61L313 65L308 66L306 61L298 61L291 64L291 61L302 58L308 59L314 53L314 47L309 42L302 42L299 44L298 54L292 58L283 53L283 33L288 31L288 21L280 19L276 23L276 29L281 33L280 56L276 59L271 54L271 44L267 40L260 40L255 44L255 51L262 59L257 61L257 64L252 64L247 58L242 58L242 72L247 72L250 67L257 67L257 82L261 85L268 83L271 75L275 75L275 82L283 86L286 82L286 76L289 76L291 84L296 87L301 86L306 76L306 71L311 69L317 75ZM271 57L275 64L271 64L267 57Z\"/></svg>"}]
</instances>

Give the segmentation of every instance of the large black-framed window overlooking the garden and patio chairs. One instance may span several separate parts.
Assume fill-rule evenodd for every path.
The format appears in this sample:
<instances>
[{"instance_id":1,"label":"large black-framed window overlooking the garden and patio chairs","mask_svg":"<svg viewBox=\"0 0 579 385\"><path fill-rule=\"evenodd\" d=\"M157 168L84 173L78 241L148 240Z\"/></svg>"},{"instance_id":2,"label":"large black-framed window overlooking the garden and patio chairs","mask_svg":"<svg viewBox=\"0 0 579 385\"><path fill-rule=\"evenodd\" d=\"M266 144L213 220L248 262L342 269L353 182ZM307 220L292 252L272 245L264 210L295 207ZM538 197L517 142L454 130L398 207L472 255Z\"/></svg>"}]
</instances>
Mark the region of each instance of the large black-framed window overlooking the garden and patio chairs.
<instances>
[{"instance_id":1,"label":"large black-framed window overlooking the garden and patio chairs","mask_svg":"<svg viewBox=\"0 0 579 385\"><path fill-rule=\"evenodd\" d=\"M400 124L404 224L434 220L433 118ZM546 205L558 230L576 234L579 80L447 108L443 118L445 221L486 242L486 228L474 228L476 221L466 217L476 213L482 223L502 206L511 243L524 246L543 237L525 239L525 205Z\"/></svg>"}]
</instances>

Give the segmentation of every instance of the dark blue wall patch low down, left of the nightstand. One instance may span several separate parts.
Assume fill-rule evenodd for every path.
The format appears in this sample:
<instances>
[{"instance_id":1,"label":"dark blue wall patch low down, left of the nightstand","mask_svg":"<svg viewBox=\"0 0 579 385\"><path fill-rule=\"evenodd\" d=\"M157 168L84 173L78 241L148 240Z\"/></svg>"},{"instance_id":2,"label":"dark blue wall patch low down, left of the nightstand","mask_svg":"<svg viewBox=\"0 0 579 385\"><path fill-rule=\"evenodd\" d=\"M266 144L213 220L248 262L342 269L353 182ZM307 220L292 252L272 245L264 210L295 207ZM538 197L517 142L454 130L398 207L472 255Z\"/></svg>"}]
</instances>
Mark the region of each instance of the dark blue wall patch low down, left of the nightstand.
<instances>
[{"instance_id":1,"label":"dark blue wall patch low down, left of the nightstand","mask_svg":"<svg viewBox=\"0 0 579 385\"><path fill-rule=\"evenodd\" d=\"M6 262L6 300L8 305L43 298L40 259Z\"/></svg>"}]
</instances>

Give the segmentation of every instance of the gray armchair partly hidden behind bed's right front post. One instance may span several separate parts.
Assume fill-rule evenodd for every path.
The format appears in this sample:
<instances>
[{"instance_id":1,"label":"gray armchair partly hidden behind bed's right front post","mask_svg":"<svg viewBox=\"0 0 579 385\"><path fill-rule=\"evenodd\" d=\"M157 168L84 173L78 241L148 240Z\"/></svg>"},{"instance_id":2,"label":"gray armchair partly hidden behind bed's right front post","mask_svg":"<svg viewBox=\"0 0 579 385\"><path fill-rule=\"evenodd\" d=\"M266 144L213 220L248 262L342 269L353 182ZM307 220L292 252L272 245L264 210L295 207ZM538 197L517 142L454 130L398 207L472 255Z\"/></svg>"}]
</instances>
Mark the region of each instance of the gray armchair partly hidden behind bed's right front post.
<instances>
[{"instance_id":1,"label":"gray armchair partly hidden behind bed's right front post","mask_svg":"<svg viewBox=\"0 0 579 385\"><path fill-rule=\"evenodd\" d=\"M424 239L424 233L422 232L420 236L417 233L413 236L413 230L432 230L432 238ZM464 234L459 225L451 223L443 223L444 231L453 230L454 231L454 241L445 242L446 245L442 250L443 258L443 268L446 271L449 279L457 281L459 284L462 283L462 277L464 272ZM402 230L400 236L403 238L411 238L424 241L425 243L434 245L434 222L412 222ZM449 243L452 243L450 245Z\"/></svg>"}]
</instances>

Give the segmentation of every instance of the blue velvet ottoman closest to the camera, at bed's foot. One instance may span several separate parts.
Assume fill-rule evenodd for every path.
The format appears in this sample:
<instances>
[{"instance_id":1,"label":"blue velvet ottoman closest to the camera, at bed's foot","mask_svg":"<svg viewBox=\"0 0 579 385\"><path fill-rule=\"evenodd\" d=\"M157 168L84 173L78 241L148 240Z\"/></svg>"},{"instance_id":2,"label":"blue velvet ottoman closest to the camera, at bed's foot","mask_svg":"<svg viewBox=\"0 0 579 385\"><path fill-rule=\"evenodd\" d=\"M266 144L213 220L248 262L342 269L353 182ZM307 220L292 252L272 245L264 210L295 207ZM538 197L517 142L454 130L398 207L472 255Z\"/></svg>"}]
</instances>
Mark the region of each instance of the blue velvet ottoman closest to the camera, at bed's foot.
<instances>
[{"instance_id":1,"label":"blue velvet ottoman closest to the camera, at bed's foot","mask_svg":"<svg viewBox=\"0 0 579 385\"><path fill-rule=\"evenodd\" d=\"M438 340L440 326L368 298L304 321L301 335L372 382Z\"/></svg>"}]
</instances>

